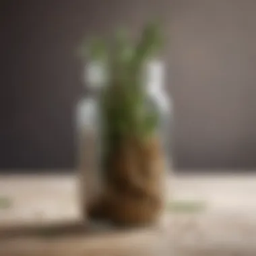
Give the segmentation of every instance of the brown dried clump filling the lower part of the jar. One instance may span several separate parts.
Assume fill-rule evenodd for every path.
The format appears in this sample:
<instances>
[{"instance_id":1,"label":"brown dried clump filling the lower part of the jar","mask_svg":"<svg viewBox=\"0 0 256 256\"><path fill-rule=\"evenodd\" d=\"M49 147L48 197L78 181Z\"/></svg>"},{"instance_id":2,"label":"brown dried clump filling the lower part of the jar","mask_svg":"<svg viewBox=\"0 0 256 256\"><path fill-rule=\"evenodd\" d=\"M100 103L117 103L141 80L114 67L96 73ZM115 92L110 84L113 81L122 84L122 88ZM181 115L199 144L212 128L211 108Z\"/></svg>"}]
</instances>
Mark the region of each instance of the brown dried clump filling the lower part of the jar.
<instances>
[{"instance_id":1,"label":"brown dried clump filling the lower part of the jar","mask_svg":"<svg viewBox=\"0 0 256 256\"><path fill-rule=\"evenodd\" d=\"M164 167L158 137L125 139L109 156L102 199L89 214L128 226L156 222L164 207Z\"/></svg>"}]
</instances>

